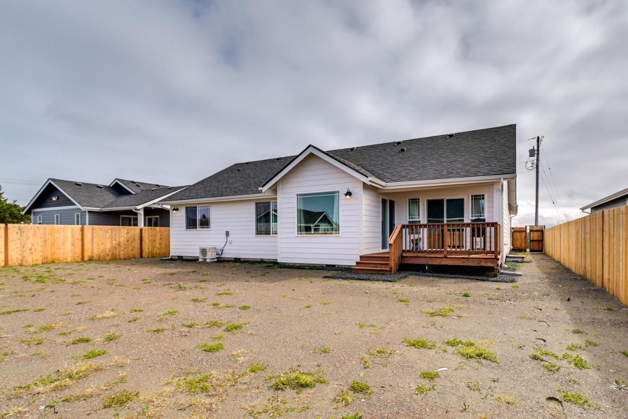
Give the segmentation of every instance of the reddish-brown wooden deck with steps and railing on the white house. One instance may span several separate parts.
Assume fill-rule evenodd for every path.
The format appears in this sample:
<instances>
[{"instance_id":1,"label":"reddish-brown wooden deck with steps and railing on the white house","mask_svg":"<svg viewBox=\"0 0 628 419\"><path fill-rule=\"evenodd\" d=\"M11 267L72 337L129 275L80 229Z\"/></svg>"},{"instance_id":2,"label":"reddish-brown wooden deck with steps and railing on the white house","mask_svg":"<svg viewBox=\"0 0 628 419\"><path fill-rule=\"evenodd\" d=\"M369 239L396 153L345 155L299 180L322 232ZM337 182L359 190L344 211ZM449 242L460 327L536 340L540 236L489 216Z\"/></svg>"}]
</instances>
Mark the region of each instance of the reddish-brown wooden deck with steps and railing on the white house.
<instances>
[{"instance_id":1,"label":"reddish-brown wooden deck with steps and railing on the white house","mask_svg":"<svg viewBox=\"0 0 628 419\"><path fill-rule=\"evenodd\" d=\"M398 225L389 252L360 256L354 272L394 274L401 264L485 266L499 274L499 223Z\"/></svg>"}]
</instances>

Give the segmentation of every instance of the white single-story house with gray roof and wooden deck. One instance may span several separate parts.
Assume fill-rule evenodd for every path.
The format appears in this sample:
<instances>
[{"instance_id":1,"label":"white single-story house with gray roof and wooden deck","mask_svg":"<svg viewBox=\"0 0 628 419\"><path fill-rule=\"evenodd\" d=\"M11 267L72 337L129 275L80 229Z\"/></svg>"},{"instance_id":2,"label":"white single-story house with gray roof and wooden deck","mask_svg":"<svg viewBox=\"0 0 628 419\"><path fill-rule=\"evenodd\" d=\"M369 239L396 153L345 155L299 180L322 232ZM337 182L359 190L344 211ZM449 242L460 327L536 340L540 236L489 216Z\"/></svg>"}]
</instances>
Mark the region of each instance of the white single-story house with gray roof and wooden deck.
<instances>
[{"instance_id":1,"label":"white single-story house with gray roof and wooden deck","mask_svg":"<svg viewBox=\"0 0 628 419\"><path fill-rule=\"evenodd\" d=\"M501 265L516 215L516 125L234 164L162 201L173 257ZM228 233L228 236L226 235Z\"/></svg>"}]
</instances>

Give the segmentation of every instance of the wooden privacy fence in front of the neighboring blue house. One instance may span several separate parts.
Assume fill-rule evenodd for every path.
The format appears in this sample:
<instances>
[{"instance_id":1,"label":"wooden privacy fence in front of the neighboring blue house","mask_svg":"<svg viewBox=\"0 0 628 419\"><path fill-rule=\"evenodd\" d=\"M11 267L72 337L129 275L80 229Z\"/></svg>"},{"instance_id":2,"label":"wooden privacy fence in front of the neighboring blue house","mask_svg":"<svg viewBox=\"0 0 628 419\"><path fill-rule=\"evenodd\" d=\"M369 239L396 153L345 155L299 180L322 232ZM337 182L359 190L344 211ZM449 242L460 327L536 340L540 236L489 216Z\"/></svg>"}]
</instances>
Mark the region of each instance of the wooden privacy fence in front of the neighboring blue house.
<instances>
[{"instance_id":1,"label":"wooden privacy fence in front of the neighboring blue house","mask_svg":"<svg viewBox=\"0 0 628 419\"><path fill-rule=\"evenodd\" d=\"M170 256L170 228L0 224L0 266Z\"/></svg>"}]
</instances>

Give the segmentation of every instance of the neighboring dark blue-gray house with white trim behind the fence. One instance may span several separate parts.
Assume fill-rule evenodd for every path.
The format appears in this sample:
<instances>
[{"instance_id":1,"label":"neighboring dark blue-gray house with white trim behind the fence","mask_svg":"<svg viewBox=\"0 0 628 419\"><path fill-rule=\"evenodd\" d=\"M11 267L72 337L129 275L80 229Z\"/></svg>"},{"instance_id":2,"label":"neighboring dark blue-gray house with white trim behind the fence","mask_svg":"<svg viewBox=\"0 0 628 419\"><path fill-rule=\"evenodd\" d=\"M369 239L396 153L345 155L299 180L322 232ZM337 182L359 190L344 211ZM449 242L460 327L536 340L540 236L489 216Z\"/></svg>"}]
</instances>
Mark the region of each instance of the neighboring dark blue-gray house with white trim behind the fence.
<instances>
[{"instance_id":1,"label":"neighboring dark blue-gray house with white trim behind the fence","mask_svg":"<svg viewBox=\"0 0 628 419\"><path fill-rule=\"evenodd\" d=\"M109 185L48 179L23 213L33 224L170 226L170 207L157 204L185 186L114 179Z\"/></svg>"}]
</instances>

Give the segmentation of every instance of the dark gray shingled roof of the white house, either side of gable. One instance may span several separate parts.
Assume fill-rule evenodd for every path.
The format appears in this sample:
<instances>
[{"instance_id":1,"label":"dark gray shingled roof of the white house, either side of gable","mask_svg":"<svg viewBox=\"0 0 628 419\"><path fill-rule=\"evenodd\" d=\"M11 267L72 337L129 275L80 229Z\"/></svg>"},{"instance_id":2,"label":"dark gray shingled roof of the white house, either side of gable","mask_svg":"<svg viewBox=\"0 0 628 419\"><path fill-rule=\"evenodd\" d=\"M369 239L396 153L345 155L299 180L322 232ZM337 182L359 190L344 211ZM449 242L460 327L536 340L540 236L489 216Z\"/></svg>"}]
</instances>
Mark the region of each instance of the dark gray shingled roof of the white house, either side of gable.
<instances>
[{"instance_id":1,"label":"dark gray shingled roof of the white house, either side of gable","mask_svg":"<svg viewBox=\"0 0 628 419\"><path fill-rule=\"evenodd\" d=\"M515 124L326 152L365 176L384 182L431 181L516 173ZM402 152L401 149L404 148ZM165 201L260 193L296 156L238 163Z\"/></svg>"}]
</instances>

